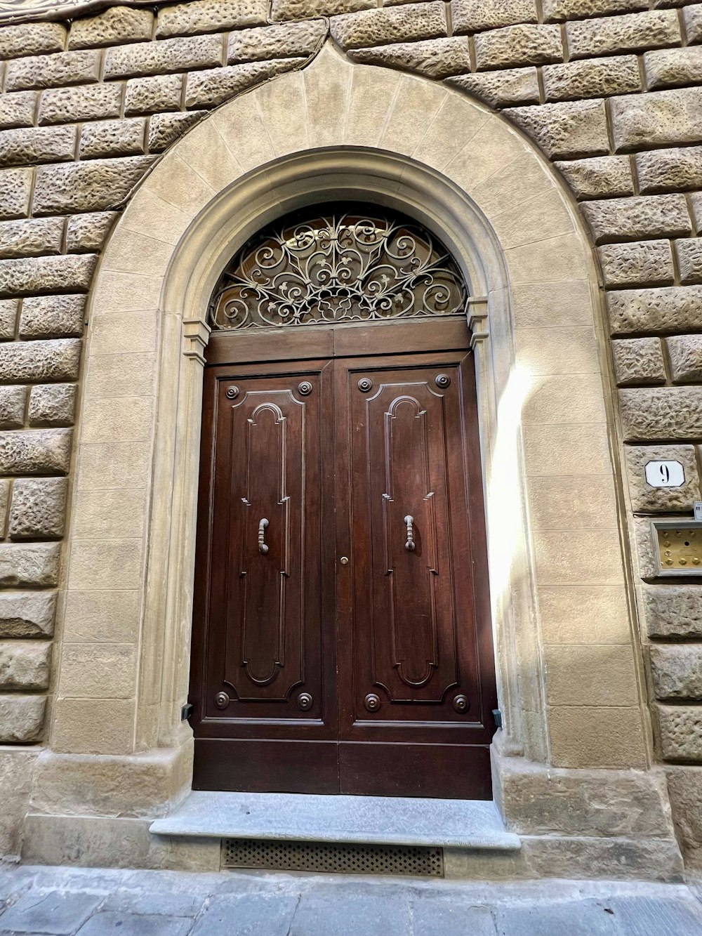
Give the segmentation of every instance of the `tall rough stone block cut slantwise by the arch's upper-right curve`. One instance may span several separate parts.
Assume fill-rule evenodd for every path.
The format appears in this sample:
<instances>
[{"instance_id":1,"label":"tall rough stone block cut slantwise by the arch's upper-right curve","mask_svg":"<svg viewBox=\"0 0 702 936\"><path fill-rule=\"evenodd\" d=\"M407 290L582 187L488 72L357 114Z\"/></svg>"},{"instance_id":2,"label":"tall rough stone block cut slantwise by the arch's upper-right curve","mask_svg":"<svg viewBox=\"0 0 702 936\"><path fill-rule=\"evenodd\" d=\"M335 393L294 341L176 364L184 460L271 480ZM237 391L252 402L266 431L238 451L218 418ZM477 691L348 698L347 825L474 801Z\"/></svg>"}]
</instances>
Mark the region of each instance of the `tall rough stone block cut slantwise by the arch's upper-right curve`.
<instances>
[{"instance_id":1,"label":"tall rough stone block cut slantwise by the arch's upper-right curve","mask_svg":"<svg viewBox=\"0 0 702 936\"><path fill-rule=\"evenodd\" d=\"M563 101L536 108L508 108L505 115L549 156L569 158L609 152L604 101Z\"/></svg>"}]
</instances>

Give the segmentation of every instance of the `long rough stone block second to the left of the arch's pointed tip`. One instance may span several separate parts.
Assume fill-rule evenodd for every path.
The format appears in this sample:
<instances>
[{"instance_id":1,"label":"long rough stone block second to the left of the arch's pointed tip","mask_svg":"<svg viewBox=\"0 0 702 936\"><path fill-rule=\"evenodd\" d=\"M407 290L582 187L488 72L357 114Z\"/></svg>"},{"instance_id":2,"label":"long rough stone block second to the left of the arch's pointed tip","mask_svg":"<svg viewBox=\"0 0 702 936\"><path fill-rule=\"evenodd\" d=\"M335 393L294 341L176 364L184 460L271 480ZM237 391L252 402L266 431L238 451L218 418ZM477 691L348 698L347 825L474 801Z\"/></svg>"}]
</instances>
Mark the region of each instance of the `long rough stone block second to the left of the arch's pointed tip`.
<instances>
[{"instance_id":1,"label":"long rough stone block second to the left of the arch's pointed tip","mask_svg":"<svg viewBox=\"0 0 702 936\"><path fill-rule=\"evenodd\" d=\"M222 43L221 36L197 36L113 46L105 56L105 78L217 66L222 62Z\"/></svg>"}]
</instances>

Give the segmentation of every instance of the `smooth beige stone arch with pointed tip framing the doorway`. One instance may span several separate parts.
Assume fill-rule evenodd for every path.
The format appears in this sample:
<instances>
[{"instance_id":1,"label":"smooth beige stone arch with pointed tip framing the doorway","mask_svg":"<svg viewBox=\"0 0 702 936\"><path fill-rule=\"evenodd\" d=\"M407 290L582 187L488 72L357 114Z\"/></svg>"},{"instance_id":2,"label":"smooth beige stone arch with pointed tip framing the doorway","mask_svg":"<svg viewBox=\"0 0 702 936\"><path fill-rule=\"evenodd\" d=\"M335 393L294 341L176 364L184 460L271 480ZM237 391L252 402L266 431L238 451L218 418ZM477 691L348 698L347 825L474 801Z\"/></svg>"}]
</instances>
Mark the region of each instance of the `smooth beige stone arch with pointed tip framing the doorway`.
<instances>
[{"instance_id":1,"label":"smooth beige stone arch with pointed tip framing the doorway","mask_svg":"<svg viewBox=\"0 0 702 936\"><path fill-rule=\"evenodd\" d=\"M332 197L376 200L440 232L480 297L471 326L503 750L563 767L646 766L597 274L578 214L555 172L504 118L429 80L352 65L329 46L312 66L228 102L175 144L140 184L102 256L74 497L83 470L112 476L123 464L126 476L115 483L133 491L143 525L124 536L115 516L104 520L101 540L74 538L66 591L70 605L71 592L99 566L105 593L123 593L138 635L137 689L134 702L121 703L117 727L113 707L95 716L87 739L81 724L81 743L105 754L187 750L180 708L207 301L227 260L258 228ZM110 369L132 376L131 396L110 402L95 390L101 381L93 375ZM564 503L581 490L599 505L599 525L573 520L566 534ZM587 709L590 719L586 733L599 739L596 751L586 744L586 763L568 743L562 689L547 718L540 630L548 623L552 631L563 615L583 645L592 615L601 617L605 644L618 648L627 673L614 733L607 735L611 707L579 703L578 714ZM580 699L593 678L592 653L588 659L575 687ZM59 698L54 751L75 750L71 732L70 708ZM187 766L185 782L186 774Z\"/></svg>"}]
</instances>

